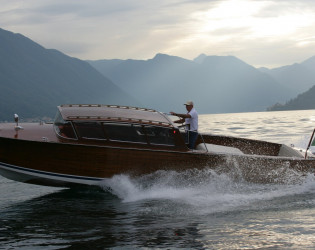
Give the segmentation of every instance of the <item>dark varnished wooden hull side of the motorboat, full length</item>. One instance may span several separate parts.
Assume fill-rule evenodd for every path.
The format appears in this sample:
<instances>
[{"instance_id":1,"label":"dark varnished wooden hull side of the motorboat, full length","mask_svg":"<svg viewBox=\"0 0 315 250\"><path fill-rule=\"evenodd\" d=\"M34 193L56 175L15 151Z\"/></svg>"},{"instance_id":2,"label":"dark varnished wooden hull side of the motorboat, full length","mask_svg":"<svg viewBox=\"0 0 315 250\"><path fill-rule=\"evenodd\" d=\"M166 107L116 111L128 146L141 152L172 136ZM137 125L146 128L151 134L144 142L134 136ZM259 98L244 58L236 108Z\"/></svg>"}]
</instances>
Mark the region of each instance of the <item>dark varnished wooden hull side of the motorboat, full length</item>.
<instances>
[{"instance_id":1,"label":"dark varnished wooden hull side of the motorboat, full length","mask_svg":"<svg viewBox=\"0 0 315 250\"><path fill-rule=\"evenodd\" d=\"M158 170L213 169L246 181L285 182L288 173L314 173L315 161L265 155L227 155L29 141L0 137L0 174L26 183L71 187ZM293 171L293 172L292 172Z\"/></svg>"}]
</instances>

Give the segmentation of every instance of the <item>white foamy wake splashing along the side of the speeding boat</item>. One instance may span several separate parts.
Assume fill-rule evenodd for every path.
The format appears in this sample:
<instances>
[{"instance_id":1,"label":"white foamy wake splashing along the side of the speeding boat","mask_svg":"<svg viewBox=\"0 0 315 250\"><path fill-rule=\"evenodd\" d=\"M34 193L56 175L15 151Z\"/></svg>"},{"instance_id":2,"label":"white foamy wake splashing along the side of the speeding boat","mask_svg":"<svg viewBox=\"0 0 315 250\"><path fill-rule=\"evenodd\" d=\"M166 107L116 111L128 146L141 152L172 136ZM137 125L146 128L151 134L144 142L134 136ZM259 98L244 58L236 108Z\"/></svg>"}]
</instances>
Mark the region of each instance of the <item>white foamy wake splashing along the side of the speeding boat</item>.
<instances>
[{"instance_id":1,"label":"white foamy wake splashing along the side of the speeding boat","mask_svg":"<svg viewBox=\"0 0 315 250\"><path fill-rule=\"evenodd\" d=\"M138 178L116 175L102 186L125 203L168 201L182 208L186 206L190 213L204 214L261 209L266 201L270 204L273 200L315 193L315 177L304 175L303 180L294 184L254 184L235 179L228 173L194 169L180 173L158 171Z\"/></svg>"}]
</instances>

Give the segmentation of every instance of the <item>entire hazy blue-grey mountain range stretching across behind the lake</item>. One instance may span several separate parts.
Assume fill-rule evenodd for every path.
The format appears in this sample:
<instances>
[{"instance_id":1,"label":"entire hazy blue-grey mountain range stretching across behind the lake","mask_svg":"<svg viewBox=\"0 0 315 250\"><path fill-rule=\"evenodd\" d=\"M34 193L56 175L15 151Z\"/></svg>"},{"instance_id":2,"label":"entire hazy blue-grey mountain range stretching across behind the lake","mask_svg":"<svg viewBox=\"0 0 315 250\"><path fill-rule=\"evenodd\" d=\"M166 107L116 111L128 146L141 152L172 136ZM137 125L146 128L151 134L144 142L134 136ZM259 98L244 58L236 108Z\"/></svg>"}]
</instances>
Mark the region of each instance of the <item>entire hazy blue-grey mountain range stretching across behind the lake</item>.
<instances>
[{"instance_id":1,"label":"entire hazy blue-grey mountain range stretching across behind the lake","mask_svg":"<svg viewBox=\"0 0 315 250\"><path fill-rule=\"evenodd\" d=\"M14 113L52 117L57 105L69 103L180 112L182 103L193 100L200 113L265 111L301 93L287 84L288 76L295 79L293 86L315 82L315 56L276 69L205 54L194 60L158 53L148 60L82 61L3 29L0 41L0 120L11 120Z\"/></svg>"}]
</instances>

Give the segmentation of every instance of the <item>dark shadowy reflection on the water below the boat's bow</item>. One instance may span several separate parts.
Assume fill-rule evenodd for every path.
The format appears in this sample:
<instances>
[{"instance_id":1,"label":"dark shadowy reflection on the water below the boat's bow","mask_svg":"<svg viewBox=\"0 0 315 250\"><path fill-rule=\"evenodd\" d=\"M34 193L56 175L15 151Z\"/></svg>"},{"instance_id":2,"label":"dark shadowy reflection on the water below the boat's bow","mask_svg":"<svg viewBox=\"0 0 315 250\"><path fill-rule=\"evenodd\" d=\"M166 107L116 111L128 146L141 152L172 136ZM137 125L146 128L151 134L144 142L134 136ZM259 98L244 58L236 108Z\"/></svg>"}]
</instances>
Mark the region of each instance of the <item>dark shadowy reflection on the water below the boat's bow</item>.
<instances>
[{"instance_id":1,"label":"dark shadowy reflection on the water below the boat's bow","mask_svg":"<svg viewBox=\"0 0 315 250\"><path fill-rule=\"evenodd\" d=\"M181 223L167 226L168 216L147 213L154 202L121 203L105 192L62 190L24 201L1 214L0 240L8 248L72 246L99 249L117 245L153 246L178 242L198 247L196 226ZM157 224L159 221L163 226ZM183 238L184 236L184 238ZM193 237L191 237L193 236Z\"/></svg>"}]
</instances>

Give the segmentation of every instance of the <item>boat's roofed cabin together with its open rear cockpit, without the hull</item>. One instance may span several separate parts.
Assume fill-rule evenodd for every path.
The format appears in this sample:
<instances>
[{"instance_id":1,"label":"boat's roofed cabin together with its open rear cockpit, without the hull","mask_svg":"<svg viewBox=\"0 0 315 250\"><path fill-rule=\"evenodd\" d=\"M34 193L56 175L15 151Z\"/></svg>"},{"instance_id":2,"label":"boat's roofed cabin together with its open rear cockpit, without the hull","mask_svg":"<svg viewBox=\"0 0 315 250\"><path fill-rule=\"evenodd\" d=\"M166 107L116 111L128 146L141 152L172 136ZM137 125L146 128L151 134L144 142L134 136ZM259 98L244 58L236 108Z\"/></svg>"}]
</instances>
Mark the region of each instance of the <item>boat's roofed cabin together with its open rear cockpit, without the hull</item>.
<instances>
[{"instance_id":1,"label":"boat's roofed cabin together with its open rear cockpit, without the hull","mask_svg":"<svg viewBox=\"0 0 315 250\"><path fill-rule=\"evenodd\" d=\"M65 143L187 152L187 136L165 114L115 105L58 106L54 130ZM300 157L281 144L201 135L195 152Z\"/></svg>"}]
</instances>

